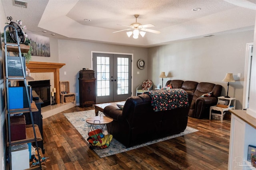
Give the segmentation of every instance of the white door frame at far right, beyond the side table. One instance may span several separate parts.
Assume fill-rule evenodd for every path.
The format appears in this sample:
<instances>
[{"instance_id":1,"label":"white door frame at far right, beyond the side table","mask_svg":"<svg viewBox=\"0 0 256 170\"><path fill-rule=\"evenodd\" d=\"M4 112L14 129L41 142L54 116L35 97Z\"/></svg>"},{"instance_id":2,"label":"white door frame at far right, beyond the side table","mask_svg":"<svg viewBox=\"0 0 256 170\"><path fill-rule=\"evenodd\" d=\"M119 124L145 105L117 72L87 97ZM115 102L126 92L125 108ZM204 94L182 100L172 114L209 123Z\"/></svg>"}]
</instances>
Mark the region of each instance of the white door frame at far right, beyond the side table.
<instances>
[{"instance_id":1,"label":"white door frame at far right, beyond the side table","mask_svg":"<svg viewBox=\"0 0 256 170\"><path fill-rule=\"evenodd\" d=\"M248 96L249 96L249 84L250 84L250 65L251 65L251 50L253 43L246 43L246 55L244 64L244 92L243 92L243 104L242 108L248 108ZM255 50L255 49L254 49Z\"/></svg>"}]
</instances>

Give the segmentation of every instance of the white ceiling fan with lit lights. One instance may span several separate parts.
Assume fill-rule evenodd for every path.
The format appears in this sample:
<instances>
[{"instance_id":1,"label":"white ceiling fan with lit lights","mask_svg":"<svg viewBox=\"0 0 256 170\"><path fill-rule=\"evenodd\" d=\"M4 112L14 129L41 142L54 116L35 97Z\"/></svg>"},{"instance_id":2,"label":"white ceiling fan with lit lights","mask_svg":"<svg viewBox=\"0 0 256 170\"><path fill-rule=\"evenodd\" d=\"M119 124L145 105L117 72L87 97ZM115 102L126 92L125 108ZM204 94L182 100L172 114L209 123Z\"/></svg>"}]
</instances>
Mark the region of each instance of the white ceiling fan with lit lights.
<instances>
[{"instance_id":1,"label":"white ceiling fan with lit lights","mask_svg":"<svg viewBox=\"0 0 256 170\"><path fill-rule=\"evenodd\" d=\"M149 23L149 24L146 24L146 25L142 25L141 23L137 22L137 18L139 17L140 15L138 14L135 14L134 17L136 18L136 22L134 23L131 23L130 26L128 25L122 25L122 26L125 26L125 27L130 27L128 29L123 29L123 30L120 30L120 31L128 31L128 30L132 30L133 31L128 31L126 32L126 34L128 35L128 37L130 37L132 34L133 34L133 38L134 39L137 39L139 34L144 37L144 35L146 34L145 31L147 32L151 32L151 33L161 33L160 31L156 31L156 30L153 30L153 29L147 29L148 27L154 27L155 25ZM118 24L119 25L119 24ZM120 32L120 31L115 31L113 33L117 33L117 32Z\"/></svg>"}]
</instances>

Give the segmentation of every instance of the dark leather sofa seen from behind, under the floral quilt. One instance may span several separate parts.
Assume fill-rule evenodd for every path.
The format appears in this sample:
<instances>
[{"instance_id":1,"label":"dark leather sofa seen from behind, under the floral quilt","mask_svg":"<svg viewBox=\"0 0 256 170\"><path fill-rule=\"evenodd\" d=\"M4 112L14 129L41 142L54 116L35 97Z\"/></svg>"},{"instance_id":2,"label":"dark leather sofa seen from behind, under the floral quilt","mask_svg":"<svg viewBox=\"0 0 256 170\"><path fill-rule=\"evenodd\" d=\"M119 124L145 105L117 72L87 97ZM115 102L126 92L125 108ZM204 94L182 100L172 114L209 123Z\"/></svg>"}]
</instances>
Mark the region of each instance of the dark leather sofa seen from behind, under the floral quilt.
<instances>
[{"instance_id":1,"label":"dark leather sofa seen from behind, under the floral quilt","mask_svg":"<svg viewBox=\"0 0 256 170\"><path fill-rule=\"evenodd\" d=\"M104 114L112 117L111 134L126 147L151 141L159 137L183 132L188 123L188 111L193 93L188 91L189 107L154 111L148 94L132 96L123 110L106 106ZM110 126L108 125L110 131Z\"/></svg>"}]
</instances>

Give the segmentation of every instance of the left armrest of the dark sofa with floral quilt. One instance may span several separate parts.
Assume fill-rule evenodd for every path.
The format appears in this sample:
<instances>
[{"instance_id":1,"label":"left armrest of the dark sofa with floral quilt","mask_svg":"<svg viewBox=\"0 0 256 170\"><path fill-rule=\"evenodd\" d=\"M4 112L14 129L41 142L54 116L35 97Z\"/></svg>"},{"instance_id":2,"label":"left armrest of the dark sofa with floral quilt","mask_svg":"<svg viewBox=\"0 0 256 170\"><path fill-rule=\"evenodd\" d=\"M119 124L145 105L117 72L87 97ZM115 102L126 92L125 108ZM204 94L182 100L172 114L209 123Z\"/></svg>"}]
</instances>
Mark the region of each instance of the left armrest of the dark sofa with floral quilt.
<instances>
[{"instance_id":1,"label":"left armrest of the dark sofa with floral quilt","mask_svg":"<svg viewBox=\"0 0 256 170\"><path fill-rule=\"evenodd\" d=\"M104 115L113 118L116 121L122 121L124 118L122 117L122 110L115 106L106 106L103 109Z\"/></svg>"}]
</instances>

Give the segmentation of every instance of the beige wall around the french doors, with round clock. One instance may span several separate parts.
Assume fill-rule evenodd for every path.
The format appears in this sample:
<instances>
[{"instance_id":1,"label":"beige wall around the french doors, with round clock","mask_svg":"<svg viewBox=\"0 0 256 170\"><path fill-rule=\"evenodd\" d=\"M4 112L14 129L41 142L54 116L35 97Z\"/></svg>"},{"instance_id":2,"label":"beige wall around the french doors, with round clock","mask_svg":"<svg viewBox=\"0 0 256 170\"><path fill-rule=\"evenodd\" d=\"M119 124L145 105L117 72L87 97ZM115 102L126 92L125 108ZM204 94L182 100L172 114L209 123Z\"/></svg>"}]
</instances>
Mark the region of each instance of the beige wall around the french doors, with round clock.
<instances>
[{"instance_id":1,"label":"beige wall around the french doors, with round clock","mask_svg":"<svg viewBox=\"0 0 256 170\"><path fill-rule=\"evenodd\" d=\"M59 63L66 63L60 68L60 80L70 81L70 92L79 93L79 71L82 68L92 68L92 51L106 53L129 53L133 54L133 84L132 92L135 94L136 87L147 79L147 56L148 49L141 47L131 47L123 45L110 45L102 43L89 43L82 41L58 40ZM144 59L146 68L140 70L137 67L138 59ZM66 75L64 75L66 71ZM140 74L137 74L137 71ZM77 104L79 98L76 98Z\"/></svg>"}]
</instances>

